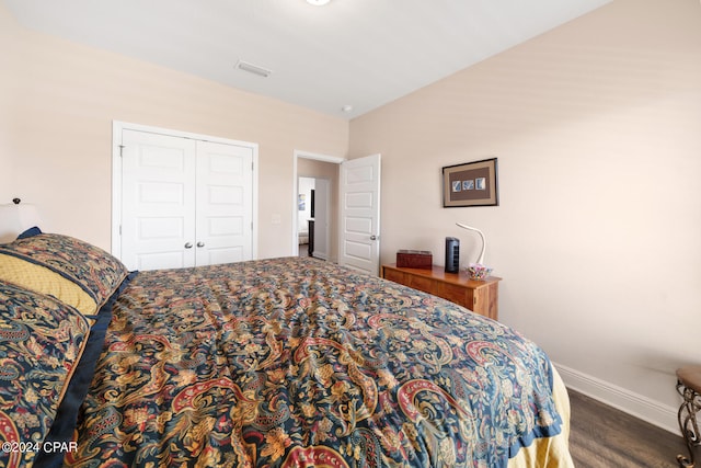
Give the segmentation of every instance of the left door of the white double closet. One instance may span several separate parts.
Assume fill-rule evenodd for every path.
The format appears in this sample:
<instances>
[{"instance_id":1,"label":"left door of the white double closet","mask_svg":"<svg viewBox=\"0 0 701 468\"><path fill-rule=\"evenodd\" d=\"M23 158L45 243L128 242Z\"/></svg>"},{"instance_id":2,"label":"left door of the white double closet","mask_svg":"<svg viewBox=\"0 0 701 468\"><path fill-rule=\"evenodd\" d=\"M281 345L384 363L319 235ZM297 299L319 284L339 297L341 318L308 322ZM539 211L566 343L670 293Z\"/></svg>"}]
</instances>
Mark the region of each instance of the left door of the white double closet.
<instances>
[{"instance_id":1,"label":"left door of the white double closet","mask_svg":"<svg viewBox=\"0 0 701 468\"><path fill-rule=\"evenodd\" d=\"M129 270L193 266L195 141L125 129L122 147L122 261Z\"/></svg>"}]
</instances>

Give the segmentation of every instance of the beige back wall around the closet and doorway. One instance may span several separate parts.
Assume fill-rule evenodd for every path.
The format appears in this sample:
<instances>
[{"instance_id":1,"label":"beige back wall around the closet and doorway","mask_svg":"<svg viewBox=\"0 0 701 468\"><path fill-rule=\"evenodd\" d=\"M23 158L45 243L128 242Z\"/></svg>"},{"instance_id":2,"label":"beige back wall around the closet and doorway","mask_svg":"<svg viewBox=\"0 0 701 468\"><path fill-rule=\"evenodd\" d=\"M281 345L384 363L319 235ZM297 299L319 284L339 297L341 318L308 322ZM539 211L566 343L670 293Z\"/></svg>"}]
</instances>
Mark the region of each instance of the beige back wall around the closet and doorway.
<instances>
[{"instance_id":1,"label":"beige back wall around the closet and doorway","mask_svg":"<svg viewBox=\"0 0 701 468\"><path fill-rule=\"evenodd\" d=\"M253 141L260 145L258 255L291 253L294 151L343 156L347 122L23 30L1 4L0 22L10 26L0 37L14 43L16 61L11 78L0 73L0 96L15 80L21 101L10 107L14 145L9 161L0 156L10 168L0 176L9 179L1 196L35 203L47 230L108 249L113 119Z\"/></svg>"}]
</instances>

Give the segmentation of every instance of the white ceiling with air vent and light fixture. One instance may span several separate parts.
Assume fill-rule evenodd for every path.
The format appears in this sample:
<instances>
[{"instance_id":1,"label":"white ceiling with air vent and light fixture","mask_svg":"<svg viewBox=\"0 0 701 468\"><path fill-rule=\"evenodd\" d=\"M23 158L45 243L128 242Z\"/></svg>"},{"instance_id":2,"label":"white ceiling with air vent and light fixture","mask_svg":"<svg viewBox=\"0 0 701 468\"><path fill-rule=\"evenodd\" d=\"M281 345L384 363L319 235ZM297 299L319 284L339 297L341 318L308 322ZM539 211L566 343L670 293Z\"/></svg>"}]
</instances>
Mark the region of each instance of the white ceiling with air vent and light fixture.
<instances>
[{"instance_id":1,"label":"white ceiling with air vent and light fixture","mask_svg":"<svg viewBox=\"0 0 701 468\"><path fill-rule=\"evenodd\" d=\"M0 1L32 30L353 118L611 0Z\"/></svg>"}]
</instances>

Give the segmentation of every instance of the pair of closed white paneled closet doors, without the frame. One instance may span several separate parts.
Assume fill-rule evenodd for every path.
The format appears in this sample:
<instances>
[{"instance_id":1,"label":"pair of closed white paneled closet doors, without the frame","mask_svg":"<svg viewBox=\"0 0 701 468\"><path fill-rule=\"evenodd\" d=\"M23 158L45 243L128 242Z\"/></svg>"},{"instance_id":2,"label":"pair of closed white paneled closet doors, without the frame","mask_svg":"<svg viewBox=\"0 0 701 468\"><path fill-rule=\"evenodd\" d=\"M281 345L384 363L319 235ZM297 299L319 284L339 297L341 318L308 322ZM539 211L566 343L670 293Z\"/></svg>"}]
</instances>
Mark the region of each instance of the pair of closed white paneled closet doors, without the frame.
<instances>
[{"instance_id":1,"label":"pair of closed white paneled closet doors, without the frame","mask_svg":"<svg viewBox=\"0 0 701 468\"><path fill-rule=\"evenodd\" d=\"M122 261L130 270L253 258L253 149L123 130Z\"/></svg>"}]
</instances>

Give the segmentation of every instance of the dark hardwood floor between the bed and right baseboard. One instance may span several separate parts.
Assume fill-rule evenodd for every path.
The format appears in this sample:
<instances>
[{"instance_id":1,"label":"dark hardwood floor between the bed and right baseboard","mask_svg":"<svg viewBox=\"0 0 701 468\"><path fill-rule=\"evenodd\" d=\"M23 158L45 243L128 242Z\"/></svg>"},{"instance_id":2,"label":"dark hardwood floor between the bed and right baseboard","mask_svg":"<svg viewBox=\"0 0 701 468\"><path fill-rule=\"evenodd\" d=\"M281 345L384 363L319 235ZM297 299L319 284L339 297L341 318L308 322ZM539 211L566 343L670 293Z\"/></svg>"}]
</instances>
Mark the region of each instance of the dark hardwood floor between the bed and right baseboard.
<instances>
[{"instance_id":1,"label":"dark hardwood floor between the bed and right baseboard","mask_svg":"<svg viewBox=\"0 0 701 468\"><path fill-rule=\"evenodd\" d=\"M570 452L577 468L675 468L687 455L673 434L593 398L568 390L572 404ZM697 453L697 459L701 453ZM698 461L698 460L697 460ZM697 466L701 466L697 463Z\"/></svg>"}]
</instances>

